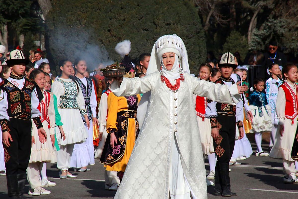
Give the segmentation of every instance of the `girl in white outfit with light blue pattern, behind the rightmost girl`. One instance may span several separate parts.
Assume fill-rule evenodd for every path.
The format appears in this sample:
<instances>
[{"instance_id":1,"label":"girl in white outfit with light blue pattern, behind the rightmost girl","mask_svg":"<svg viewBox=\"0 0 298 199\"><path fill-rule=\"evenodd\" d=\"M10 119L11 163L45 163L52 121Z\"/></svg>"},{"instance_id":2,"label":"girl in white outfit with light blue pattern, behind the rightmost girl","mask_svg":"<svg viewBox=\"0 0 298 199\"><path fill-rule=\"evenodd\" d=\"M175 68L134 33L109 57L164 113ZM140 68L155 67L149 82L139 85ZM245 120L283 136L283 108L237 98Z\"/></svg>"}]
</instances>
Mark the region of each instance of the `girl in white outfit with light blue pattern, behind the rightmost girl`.
<instances>
[{"instance_id":1,"label":"girl in white outfit with light blue pattern, behind the rightmost girl","mask_svg":"<svg viewBox=\"0 0 298 199\"><path fill-rule=\"evenodd\" d=\"M272 130L269 148L272 149L278 125L278 117L275 111L275 104L278 93L278 87L282 85L283 81L279 78L280 68L278 64L273 63L269 65L268 71L271 77L266 81L266 98L271 108Z\"/></svg>"}]
</instances>

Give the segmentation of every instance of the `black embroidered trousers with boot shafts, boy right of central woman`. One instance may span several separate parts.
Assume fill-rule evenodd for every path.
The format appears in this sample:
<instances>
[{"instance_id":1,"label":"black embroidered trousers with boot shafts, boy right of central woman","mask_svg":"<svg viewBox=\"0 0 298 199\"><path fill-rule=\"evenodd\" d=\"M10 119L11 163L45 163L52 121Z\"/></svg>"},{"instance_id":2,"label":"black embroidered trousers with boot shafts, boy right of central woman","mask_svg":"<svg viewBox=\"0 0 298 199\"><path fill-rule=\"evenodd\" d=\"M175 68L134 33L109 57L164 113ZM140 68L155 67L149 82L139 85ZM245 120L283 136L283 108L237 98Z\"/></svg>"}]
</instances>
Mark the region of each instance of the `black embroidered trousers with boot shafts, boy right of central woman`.
<instances>
[{"instance_id":1,"label":"black embroidered trousers with boot shafts, boy right of central woman","mask_svg":"<svg viewBox=\"0 0 298 199\"><path fill-rule=\"evenodd\" d=\"M235 146L236 117L218 114L217 122L219 138L216 142L213 142L217 156L214 192L221 194L222 190L231 190L229 161Z\"/></svg>"}]
</instances>

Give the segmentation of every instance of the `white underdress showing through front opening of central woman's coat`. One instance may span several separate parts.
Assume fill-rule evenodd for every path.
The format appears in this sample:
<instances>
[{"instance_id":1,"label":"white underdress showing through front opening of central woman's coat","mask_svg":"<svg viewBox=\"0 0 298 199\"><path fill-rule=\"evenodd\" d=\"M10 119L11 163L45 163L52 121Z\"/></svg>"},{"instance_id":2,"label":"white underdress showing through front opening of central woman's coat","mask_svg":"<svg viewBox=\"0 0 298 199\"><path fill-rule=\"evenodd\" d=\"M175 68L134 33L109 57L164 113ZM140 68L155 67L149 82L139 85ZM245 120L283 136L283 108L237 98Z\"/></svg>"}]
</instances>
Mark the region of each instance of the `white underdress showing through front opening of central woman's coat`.
<instances>
[{"instance_id":1,"label":"white underdress showing through front opening of central woman's coat","mask_svg":"<svg viewBox=\"0 0 298 199\"><path fill-rule=\"evenodd\" d=\"M184 177L180 152L175 134L172 141L172 160L169 171L169 192L171 199L190 199L190 188Z\"/></svg>"}]
</instances>

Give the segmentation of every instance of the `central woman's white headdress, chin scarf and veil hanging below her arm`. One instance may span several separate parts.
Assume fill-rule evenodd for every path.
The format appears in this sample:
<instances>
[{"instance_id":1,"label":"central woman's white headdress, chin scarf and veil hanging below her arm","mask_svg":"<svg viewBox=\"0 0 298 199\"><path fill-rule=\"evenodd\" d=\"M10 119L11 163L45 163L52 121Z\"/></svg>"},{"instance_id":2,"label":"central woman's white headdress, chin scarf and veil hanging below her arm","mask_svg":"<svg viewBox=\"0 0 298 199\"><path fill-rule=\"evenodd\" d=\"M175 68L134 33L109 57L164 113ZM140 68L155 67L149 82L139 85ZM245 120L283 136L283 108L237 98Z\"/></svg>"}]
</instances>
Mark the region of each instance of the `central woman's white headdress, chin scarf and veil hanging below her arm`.
<instances>
[{"instance_id":1,"label":"central woman's white headdress, chin scarf and veil hanging below her arm","mask_svg":"<svg viewBox=\"0 0 298 199\"><path fill-rule=\"evenodd\" d=\"M164 35L162 37L159 37L155 42L155 44L153 45L146 75L149 75L150 73L154 73L156 71L160 71L162 55L164 53L169 53L169 52L176 54L175 63L173 65L173 68L170 71L165 70L165 67L162 69L162 71L164 72L164 76L166 76L168 79L178 79L180 77L179 63L180 63L180 67L182 68L182 71L184 73L190 74L187 51L186 51L184 42L179 36L177 36L176 34L173 34L173 35ZM178 70L177 70L177 67L178 67ZM150 100L150 97L151 97L151 92L147 92L143 94L138 106L137 120L139 122L140 129L142 128L145 115L147 113L147 109L149 105L148 102Z\"/></svg>"}]
</instances>

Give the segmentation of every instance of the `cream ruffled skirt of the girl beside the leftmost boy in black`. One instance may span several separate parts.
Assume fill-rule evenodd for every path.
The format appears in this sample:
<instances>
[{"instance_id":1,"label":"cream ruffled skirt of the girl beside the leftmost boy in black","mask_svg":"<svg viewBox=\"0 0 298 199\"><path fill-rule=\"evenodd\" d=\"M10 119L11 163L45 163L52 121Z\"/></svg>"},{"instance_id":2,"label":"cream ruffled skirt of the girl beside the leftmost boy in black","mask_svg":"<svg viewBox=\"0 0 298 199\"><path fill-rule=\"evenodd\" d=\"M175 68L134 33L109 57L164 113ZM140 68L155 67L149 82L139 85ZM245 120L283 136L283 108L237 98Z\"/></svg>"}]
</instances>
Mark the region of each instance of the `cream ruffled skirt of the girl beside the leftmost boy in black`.
<instances>
[{"instance_id":1,"label":"cream ruffled skirt of the girl beside the leftmost boy in black","mask_svg":"<svg viewBox=\"0 0 298 199\"><path fill-rule=\"evenodd\" d=\"M39 141L38 131L37 128L32 121L32 135L34 136L35 144L32 143L31 147L31 155L29 163L35 162L47 162L47 163L55 163L57 162L57 156L53 149L51 137L50 137L50 130L48 128L48 122L44 120L42 122L43 128L46 131L46 142L42 144ZM54 130L54 129L53 129Z\"/></svg>"}]
</instances>

